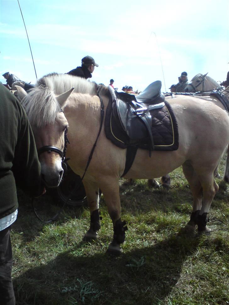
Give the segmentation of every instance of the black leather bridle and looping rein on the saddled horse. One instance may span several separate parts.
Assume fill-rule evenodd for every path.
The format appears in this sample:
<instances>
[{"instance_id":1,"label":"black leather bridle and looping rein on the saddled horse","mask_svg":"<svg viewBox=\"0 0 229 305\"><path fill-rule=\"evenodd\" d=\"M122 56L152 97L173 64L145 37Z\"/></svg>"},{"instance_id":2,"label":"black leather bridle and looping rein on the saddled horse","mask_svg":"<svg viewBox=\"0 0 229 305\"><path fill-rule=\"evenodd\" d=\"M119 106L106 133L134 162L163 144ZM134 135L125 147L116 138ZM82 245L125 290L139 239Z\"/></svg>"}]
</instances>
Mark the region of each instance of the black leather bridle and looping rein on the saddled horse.
<instances>
[{"instance_id":1,"label":"black leather bridle and looping rein on the saddled horse","mask_svg":"<svg viewBox=\"0 0 229 305\"><path fill-rule=\"evenodd\" d=\"M103 104L103 100L102 100L102 97L100 96L100 94L99 94L98 91L97 91L97 95L98 95L98 97L99 97L100 104L101 104L101 110L100 110L101 119L100 119L100 126L99 126L98 136L97 136L97 138L96 138L96 140L95 140L95 143L94 143L94 145L93 145L93 147L92 147L91 153L90 153L90 155L89 155L89 157L88 157L88 161L87 161L86 168L85 168L85 170L84 170L84 174L83 174L81 180L79 181L78 186L76 186L75 189L73 189L73 190L70 192L70 195L69 195L68 198L65 200L65 202L64 202L63 206L61 207L61 209L59 210L59 212L56 213L53 217L51 217L51 218L50 218L49 220L47 220L47 221L42 220L42 219L38 216L38 214L36 213L36 208L34 207L33 199L32 199L32 207L33 207L33 210L34 210L34 213L35 213L36 217L37 217L40 221L42 221L43 223L45 223L45 224L48 224L48 223L50 223L50 222L52 222L52 221L55 221L55 220L58 218L58 216L59 216L60 213L63 211L63 209L64 209L66 203L68 202L68 200L69 200L69 198L71 197L71 195L73 194L73 192L77 191L77 189L80 187L80 184L81 184L81 182L83 181L83 178L84 178L84 176L85 176L85 174L86 174L86 171L87 171L87 169L88 169L88 166L89 166L89 164L90 164L90 162L91 162L92 155L93 155L93 153L94 153L94 150L95 150L95 147L96 147L96 144L97 144L97 141L98 141L98 137L99 137L99 135L100 135L100 133L101 133L101 130L102 130L102 127L103 127L103 118L104 118L104 104ZM60 109L60 112L64 112L63 109ZM70 142L69 142L69 140L68 140L68 138L67 138L67 132L68 132L68 129L66 128L65 131L64 131L64 149L63 149L63 152L62 152L62 150L60 150L60 149L59 149L58 147L56 147L56 146L48 145L48 146L43 146L43 147L41 147L41 148L38 149L38 151L37 151L38 156L39 156L42 152L45 152L45 151L51 152L51 151L53 151L53 152L59 153L59 155L60 155L61 158L62 158L62 164L63 164L64 160L65 160L65 161L69 160L69 159L65 159L65 154L66 154L66 151L67 151L67 144L68 144L68 143L70 144Z\"/></svg>"}]
</instances>

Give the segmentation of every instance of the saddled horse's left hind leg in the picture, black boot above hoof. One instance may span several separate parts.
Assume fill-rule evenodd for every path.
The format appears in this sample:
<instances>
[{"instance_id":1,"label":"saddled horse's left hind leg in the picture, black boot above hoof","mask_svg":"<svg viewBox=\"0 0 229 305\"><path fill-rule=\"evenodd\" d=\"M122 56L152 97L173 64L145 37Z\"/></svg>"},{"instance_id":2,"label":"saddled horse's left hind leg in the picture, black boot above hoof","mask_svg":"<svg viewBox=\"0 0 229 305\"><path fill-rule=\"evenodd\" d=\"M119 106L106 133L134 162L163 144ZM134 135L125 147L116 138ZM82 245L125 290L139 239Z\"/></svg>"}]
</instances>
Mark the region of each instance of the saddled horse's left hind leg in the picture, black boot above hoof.
<instances>
[{"instance_id":1,"label":"saddled horse's left hind leg in the picture, black boot above hoof","mask_svg":"<svg viewBox=\"0 0 229 305\"><path fill-rule=\"evenodd\" d=\"M189 183L190 190L193 194L193 211L190 216L190 220L186 225L188 230L194 230L197 225L197 217L202 206L202 196L203 189L198 178L198 175L195 173L193 166L189 162L185 162L182 165L183 173Z\"/></svg>"}]
</instances>

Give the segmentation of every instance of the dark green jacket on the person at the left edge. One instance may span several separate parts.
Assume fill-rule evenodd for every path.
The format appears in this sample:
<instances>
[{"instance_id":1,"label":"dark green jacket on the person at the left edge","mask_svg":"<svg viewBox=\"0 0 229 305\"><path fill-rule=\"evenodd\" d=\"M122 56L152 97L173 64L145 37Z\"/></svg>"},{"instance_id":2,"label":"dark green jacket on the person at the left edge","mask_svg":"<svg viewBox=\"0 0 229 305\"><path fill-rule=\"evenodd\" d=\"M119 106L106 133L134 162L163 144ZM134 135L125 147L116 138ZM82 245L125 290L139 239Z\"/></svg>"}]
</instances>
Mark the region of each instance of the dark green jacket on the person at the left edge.
<instances>
[{"instance_id":1,"label":"dark green jacket on the person at the left edge","mask_svg":"<svg viewBox=\"0 0 229 305\"><path fill-rule=\"evenodd\" d=\"M39 196L41 165L24 108L0 85L0 218L18 208L16 185L30 196Z\"/></svg>"}]
</instances>

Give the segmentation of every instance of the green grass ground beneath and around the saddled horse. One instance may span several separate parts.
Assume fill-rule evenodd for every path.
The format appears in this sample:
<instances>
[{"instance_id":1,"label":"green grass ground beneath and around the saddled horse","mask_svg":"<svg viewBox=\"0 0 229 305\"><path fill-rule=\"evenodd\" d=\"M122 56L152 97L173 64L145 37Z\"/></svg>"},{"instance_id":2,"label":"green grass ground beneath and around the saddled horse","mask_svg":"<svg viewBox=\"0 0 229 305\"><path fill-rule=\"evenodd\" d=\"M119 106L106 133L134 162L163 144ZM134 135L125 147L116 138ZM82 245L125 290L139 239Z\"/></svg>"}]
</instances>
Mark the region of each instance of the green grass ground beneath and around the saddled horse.
<instances>
[{"instance_id":1,"label":"green grass ground beneath and around the saddled horse","mask_svg":"<svg viewBox=\"0 0 229 305\"><path fill-rule=\"evenodd\" d=\"M122 220L128 225L120 257L106 254L113 226L103 196L100 239L86 243L87 206L68 206L58 221L44 225L19 190L11 233L16 304L229 304L229 187L217 179L211 235L187 236L182 228L192 195L181 168L171 180L168 191L150 189L146 180L131 186L120 180Z\"/></svg>"}]
</instances>

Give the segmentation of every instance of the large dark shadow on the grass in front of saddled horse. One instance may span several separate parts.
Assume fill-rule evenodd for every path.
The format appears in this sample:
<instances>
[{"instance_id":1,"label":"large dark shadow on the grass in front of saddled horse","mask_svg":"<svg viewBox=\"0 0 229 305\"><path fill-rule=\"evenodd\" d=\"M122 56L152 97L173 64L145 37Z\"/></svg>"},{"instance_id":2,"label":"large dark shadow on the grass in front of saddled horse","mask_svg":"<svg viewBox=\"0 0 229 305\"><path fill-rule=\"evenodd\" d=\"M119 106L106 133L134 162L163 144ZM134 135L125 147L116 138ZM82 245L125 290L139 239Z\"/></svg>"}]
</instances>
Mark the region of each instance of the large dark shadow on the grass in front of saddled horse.
<instances>
[{"instance_id":1,"label":"large dark shadow on the grass in front of saddled horse","mask_svg":"<svg viewBox=\"0 0 229 305\"><path fill-rule=\"evenodd\" d=\"M98 242L81 242L15 278L17 304L161 304L199 244L198 238L181 232L120 257L79 254Z\"/></svg>"}]
</instances>

